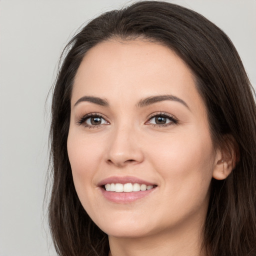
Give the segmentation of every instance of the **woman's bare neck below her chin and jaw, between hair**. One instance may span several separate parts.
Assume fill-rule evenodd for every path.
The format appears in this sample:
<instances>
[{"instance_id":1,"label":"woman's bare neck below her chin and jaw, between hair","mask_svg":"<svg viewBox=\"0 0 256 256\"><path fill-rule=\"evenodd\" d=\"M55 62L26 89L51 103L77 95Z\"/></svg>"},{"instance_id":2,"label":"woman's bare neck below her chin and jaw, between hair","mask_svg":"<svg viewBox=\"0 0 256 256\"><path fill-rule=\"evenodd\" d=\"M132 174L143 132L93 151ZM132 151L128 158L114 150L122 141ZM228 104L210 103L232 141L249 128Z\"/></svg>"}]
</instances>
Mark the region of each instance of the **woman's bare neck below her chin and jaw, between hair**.
<instances>
[{"instance_id":1,"label":"woman's bare neck below her chin and jaw, between hair","mask_svg":"<svg viewBox=\"0 0 256 256\"><path fill-rule=\"evenodd\" d=\"M204 256L201 231L194 225L144 237L109 236L109 256Z\"/></svg>"}]
</instances>

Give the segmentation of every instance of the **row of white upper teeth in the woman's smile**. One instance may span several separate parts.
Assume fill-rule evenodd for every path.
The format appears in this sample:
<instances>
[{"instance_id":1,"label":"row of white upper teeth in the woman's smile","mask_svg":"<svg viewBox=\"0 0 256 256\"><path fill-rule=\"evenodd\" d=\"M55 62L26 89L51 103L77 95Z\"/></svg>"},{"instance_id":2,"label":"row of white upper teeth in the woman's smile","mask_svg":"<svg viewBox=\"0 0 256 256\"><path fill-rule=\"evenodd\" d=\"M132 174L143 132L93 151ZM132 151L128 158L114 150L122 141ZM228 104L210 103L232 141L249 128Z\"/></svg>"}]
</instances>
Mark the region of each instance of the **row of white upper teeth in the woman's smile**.
<instances>
[{"instance_id":1,"label":"row of white upper teeth in the woman's smile","mask_svg":"<svg viewBox=\"0 0 256 256\"><path fill-rule=\"evenodd\" d=\"M145 185L145 184L138 184L138 183L111 183L105 184L106 191L112 192L137 192L137 191L145 191L152 189L153 185Z\"/></svg>"}]
</instances>

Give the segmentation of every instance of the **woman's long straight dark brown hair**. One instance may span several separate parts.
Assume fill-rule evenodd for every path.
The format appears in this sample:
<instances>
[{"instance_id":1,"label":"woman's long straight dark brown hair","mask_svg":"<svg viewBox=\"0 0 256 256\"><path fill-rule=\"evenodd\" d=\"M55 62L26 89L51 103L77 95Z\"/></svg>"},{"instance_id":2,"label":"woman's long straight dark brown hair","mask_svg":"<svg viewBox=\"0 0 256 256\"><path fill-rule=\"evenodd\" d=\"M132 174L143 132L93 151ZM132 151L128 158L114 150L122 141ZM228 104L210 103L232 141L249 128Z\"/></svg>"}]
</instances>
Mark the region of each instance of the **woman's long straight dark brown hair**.
<instances>
[{"instance_id":1,"label":"woman's long straight dark brown hair","mask_svg":"<svg viewBox=\"0 0 256 256\"><path fill-rule=\"evenodd\" d=\"M83 209L67 156L70 96L86 52L109 38L143 37L174 50L196 77L215 145L227 141L239 151L231 174L212 179L204 226L210 256L256 255L256 108L252 87L227 35L200 14L161 1L140 1L101 14L66 46L52 95L50 129L52 189L49 224L61 256L105 256L107 235Z\"/></svg>"}]
</instances>

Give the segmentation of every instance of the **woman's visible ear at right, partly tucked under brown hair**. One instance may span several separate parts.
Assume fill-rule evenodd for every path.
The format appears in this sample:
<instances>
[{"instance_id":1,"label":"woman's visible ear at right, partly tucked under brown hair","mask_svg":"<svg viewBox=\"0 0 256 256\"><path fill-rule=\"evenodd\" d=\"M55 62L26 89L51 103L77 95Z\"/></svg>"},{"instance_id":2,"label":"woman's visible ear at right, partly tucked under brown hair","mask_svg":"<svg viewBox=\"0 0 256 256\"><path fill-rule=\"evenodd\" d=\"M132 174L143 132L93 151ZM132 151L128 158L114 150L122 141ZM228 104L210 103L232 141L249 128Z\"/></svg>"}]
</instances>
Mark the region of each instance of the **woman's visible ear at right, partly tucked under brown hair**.
<instances>
[{"instance_id":1,"label":"woman's visible ear at right, partly tucked under brown hair","mask_svg":"<svg viewBox=\"0 0 256 256\"><path fill-rule=\"evenodd\" d=\"M225 135L223 143L216 149L212 177L225 179L239 160L239 149L233 136Z\"/></svg>"}]
</instances>

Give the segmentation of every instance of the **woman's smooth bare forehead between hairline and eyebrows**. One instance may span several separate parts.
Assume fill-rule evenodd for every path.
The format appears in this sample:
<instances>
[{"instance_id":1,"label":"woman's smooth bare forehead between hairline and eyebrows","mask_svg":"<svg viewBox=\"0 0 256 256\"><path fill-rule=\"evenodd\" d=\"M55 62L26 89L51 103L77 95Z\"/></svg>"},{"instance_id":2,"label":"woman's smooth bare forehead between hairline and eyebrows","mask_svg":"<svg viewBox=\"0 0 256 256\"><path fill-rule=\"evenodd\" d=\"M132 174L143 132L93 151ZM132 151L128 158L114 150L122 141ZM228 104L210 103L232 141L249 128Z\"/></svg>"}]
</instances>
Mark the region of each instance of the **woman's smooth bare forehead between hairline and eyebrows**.
<instances>
[{"instance_id":1,"label":"woman's smooth bare forehead between hairline and eyebrows","mask_svg":"<svg viewBox=\"0 0 256 256\"><path fill-rule=\"evenodd\" d=\"M154 94L199 99L194 75L174 51L140 39L111 39L95 45L83 57L71 104L84 95L139 100Z\"/></svg>"}]
</instances>

